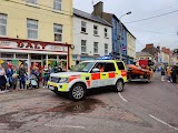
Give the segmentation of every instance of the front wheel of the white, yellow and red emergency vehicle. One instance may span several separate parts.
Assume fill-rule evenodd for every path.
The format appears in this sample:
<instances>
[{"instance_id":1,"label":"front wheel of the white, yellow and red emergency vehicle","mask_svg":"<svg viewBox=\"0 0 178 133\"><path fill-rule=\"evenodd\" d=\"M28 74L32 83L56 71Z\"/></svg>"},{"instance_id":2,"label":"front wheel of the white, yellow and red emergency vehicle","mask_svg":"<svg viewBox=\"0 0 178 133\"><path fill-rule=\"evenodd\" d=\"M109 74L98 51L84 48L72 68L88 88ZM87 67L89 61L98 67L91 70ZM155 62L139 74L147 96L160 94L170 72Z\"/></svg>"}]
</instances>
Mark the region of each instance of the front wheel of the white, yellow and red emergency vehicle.
<instances>
[{"instance_id":1,"label":"front wheel of the white, yellow and red emergency vehicle","mask_svg":"<svg viewBox=\"0 0 178 133\"><path fill-rule=\"evenodd\" d=\"M69 92L69 98L73 101L80 101L85 96L86 96L86 86L81 83L76 83Z\"/></svg>"}]
</instances>

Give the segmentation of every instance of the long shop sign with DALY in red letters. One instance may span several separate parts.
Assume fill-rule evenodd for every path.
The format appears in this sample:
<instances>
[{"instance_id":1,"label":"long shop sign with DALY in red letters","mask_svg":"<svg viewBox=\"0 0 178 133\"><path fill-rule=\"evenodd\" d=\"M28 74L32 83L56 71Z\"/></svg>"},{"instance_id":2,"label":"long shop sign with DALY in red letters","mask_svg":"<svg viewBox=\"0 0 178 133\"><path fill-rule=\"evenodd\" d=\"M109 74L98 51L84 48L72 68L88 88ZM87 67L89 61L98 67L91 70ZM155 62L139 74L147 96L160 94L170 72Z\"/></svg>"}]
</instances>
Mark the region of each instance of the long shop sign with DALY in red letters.
<instances>
[{"instance_id":1,"label":"long shop sign with DALY in red letters","mask_svg":"<svg viewBox=\"0 0 178 133\"><path fill-rule=\"evenodd\" d=\"M68 47L60 44L48 44L40 42L23 42L23 41L0 41L0 49L23 49L33 51L56 51L67 52Z\"/></svg>"}]
</instances>

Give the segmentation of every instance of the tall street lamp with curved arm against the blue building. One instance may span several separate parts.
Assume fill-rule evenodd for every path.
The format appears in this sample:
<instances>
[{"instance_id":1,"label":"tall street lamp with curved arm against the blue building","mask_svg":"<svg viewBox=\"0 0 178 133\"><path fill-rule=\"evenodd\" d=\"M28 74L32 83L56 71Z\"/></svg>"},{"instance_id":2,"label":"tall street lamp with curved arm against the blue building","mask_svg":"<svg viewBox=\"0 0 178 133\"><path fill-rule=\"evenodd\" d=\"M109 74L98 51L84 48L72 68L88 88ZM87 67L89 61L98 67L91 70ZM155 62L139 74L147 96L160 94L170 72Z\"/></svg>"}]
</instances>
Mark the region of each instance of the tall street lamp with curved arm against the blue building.
<instances>
[{"instance_id":1,"label":"tall street lamp with curved arm against the blue building","mask_svg":"<svg viewBox=\"0 0 178 133\"><path fill-rule=\"evenodd\" d=\"M131 14L131 11L122 14L120 18L119 18L119 24L120 24L120 35L119 35L119 42L120 42L120 61L122 61L122 44L121 44L121 34L122 34L122 24L121 24L121 18L127 16L127 14Z\"/></svg>"}]
</instances>

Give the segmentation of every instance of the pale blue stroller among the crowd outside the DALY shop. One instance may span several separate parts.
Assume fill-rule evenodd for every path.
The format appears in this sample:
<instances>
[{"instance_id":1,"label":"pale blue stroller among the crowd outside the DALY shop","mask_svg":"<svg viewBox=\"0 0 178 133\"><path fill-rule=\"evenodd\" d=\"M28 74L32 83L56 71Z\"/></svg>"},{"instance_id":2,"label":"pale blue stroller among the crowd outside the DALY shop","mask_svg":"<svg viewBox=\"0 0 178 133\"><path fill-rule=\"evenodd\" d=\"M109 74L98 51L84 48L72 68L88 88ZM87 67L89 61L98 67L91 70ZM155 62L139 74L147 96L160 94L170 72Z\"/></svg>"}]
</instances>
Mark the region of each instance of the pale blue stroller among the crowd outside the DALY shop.
<instances>
[{"instance_id":1,"label":"pale blue stroller among the crowd outside the DALY shop","mask_svg":"<svg viewBox=\"0 0 178 133\"><path fill-rule=\"evenodd\" d=\"M37 89L38 88L37 81L38 79L36 78L36 75L32 74L27 82L27 89Z\"/></svg>"}]
</instances>

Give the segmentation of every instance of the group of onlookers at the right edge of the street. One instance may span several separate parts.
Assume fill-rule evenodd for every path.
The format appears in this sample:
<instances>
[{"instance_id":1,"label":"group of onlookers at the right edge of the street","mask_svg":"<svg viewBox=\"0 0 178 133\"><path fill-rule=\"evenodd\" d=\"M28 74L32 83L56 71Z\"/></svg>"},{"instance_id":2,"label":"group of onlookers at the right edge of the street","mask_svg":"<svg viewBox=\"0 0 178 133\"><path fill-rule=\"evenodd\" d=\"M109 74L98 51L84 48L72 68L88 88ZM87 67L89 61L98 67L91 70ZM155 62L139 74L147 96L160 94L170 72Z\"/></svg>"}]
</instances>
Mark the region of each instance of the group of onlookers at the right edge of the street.
<instances>
[{"instance_id":1,"label":"group of onlookers at the right edge of the street","mask_svg":"<svg viewBox=\"0 0 178 133\"><path fill-rule=\"evenodd\" d=\"M160 66L160 72L161 72L161 81L168 81L168 82L172 82L176 83L177 80L177 70L176 70L176 65L172 66Z\"/></svg>"}]
</instances>

